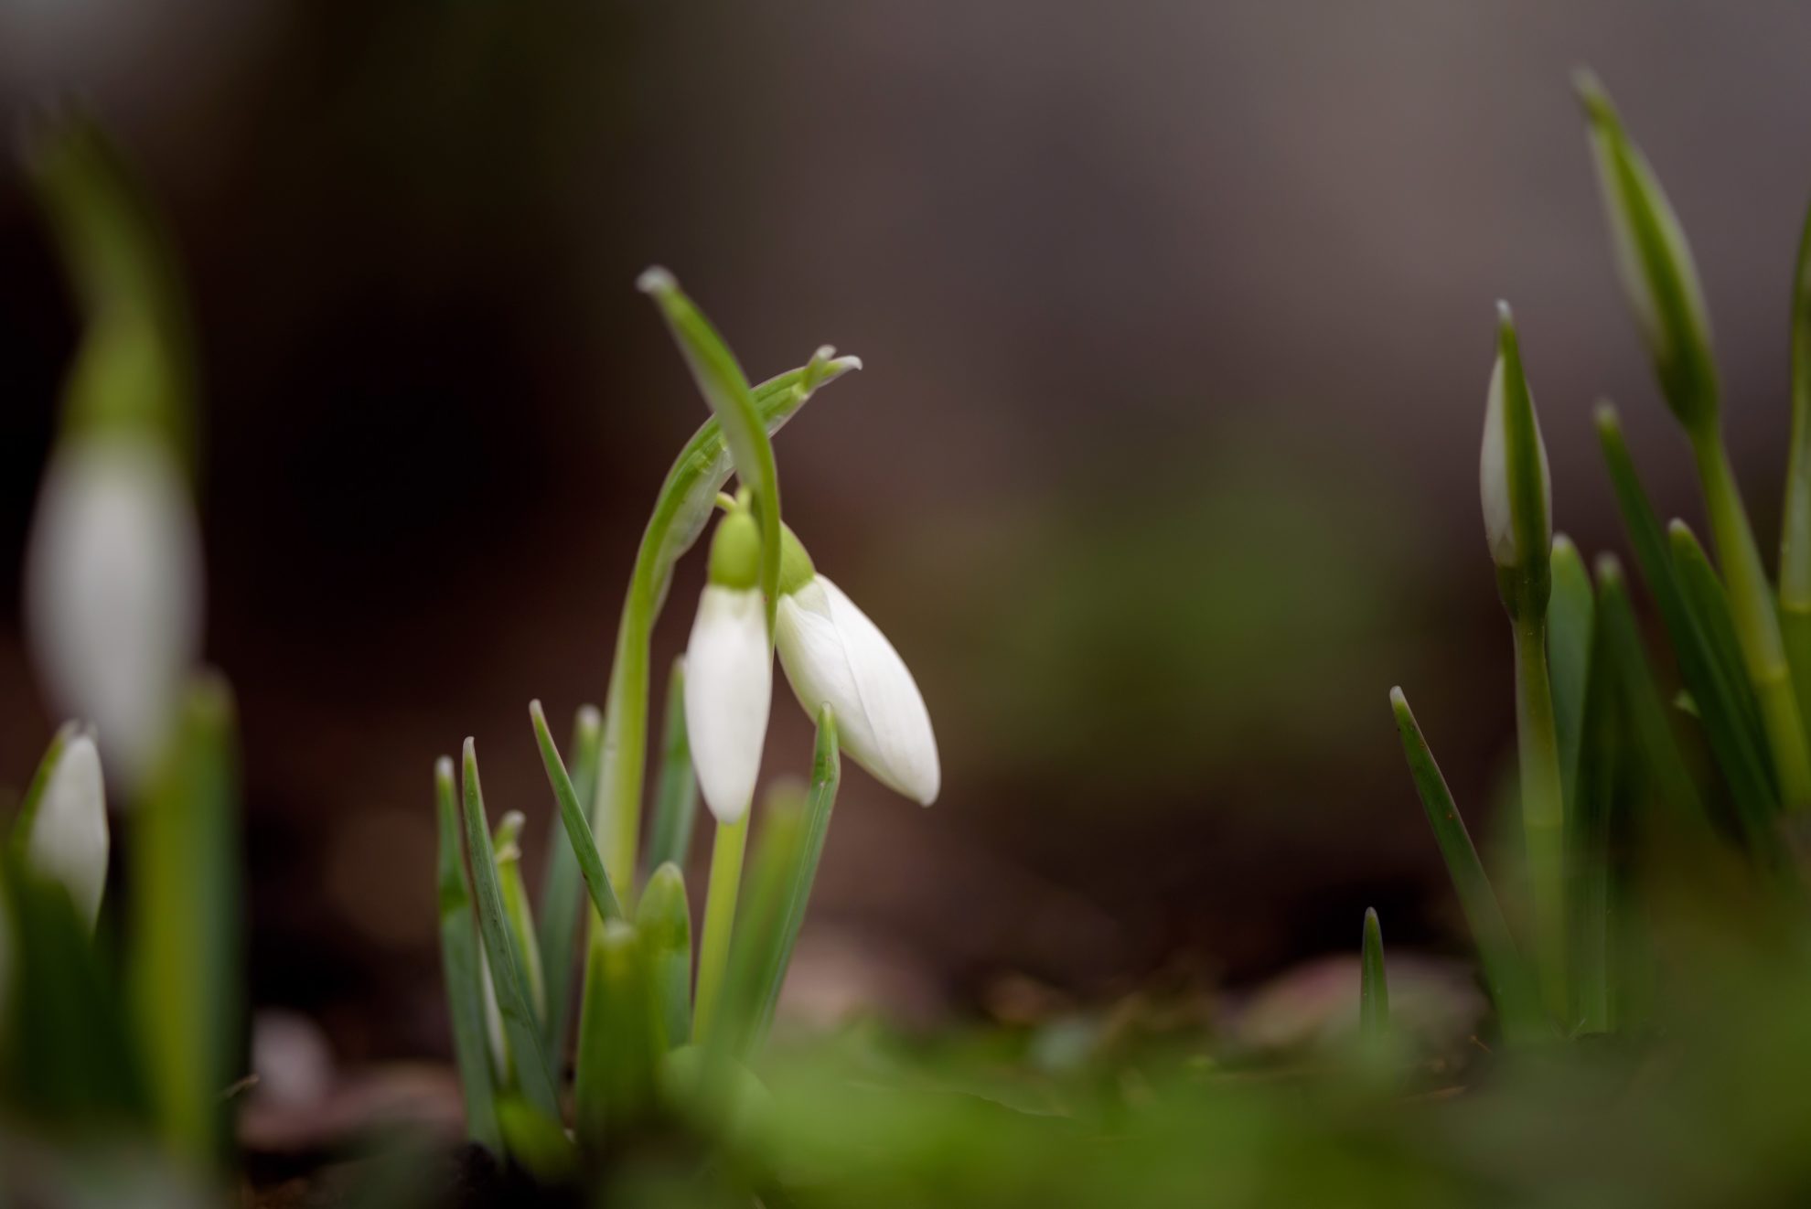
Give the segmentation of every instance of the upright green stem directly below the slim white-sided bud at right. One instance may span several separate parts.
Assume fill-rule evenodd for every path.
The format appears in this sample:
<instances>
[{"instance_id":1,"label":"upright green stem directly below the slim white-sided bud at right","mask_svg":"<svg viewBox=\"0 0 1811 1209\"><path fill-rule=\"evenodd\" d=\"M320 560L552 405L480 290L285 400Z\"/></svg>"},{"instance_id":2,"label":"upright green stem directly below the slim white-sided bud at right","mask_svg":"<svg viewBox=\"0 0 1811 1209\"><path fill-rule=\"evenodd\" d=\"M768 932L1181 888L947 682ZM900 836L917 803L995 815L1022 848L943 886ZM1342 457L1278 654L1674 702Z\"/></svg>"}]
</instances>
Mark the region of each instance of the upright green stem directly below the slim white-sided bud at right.
<instances>
[{"instance_id":1,"label":"upright green stem directly below the slim white-sided bud at right","mask_svg":"<svg viewBox=\"0 0 1811 1209\"><path fill-rule=\"evenodd\" d=\"M1534 916L1534 966L1541 999L1561 1015L1567 1006L1567 843L1554 695L1547 682L1547 621L1518 619L1516 751L1521 764L1521 825L1528 847L1528 900Z\"/></svg>"}]
</instances>

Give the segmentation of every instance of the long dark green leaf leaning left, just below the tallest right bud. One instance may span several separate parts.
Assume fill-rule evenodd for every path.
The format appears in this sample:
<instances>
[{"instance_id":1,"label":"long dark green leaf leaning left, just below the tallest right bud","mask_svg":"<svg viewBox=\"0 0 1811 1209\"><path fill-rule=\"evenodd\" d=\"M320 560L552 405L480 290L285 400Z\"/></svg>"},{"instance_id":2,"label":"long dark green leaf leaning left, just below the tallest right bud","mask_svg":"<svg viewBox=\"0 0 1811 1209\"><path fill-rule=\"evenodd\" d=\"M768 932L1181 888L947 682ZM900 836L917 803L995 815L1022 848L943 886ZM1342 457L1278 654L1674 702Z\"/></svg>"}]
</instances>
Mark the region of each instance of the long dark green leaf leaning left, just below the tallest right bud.
<instances>
[{"instance_id":1,"label":"long dark green leaf leaning left, just below the tallest right bud","mask_svg":"<svg viewBox=\"0 0 1811 1209\"><path fill-rule=\"evenodd\" d=\"M1641 565L1643 579L1653 594L1666 635L1679 661L1679 675L1699 706L1704 737L1710 740L1717 767L1730 785L1730 796L1742 816L1771 816L1778 811L1778 791L1773 785L1773 766L1766 744L1744 724L1742 693L1746 686L1724 673L1711 639L1704 633L1691 610L1679 574L1673 568L1672 545L1661 528L1648 494L1635 472L1623 442L1623 425L1610 407L1597 409L1597 438L1603 445L1610 485L1615 489L1623 523Z\"/></svg>"}]
</instances>

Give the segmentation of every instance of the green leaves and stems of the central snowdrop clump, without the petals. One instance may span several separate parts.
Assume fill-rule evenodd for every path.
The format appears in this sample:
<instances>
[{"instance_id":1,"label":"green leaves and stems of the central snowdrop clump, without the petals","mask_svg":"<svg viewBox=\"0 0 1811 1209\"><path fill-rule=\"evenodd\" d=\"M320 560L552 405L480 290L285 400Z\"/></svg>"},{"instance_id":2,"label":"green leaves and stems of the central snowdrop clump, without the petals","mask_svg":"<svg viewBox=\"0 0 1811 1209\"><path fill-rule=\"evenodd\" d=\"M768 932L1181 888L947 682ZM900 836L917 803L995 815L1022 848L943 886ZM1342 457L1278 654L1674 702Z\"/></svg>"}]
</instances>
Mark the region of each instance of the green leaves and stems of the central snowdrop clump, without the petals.
<instances>
[{"instance_id":1,"label":"green leaves and stems of the central snowdrop clump, without the petals","mask_svg":"<svg viewBox=\"0 0 1811 1209\"><path fill-rule=\"evenodd\" d=\"M820 349L806 366L750 387L666 273L650 270L641 284L712 418L686 442L656 500L630 576L607 708L578 711L570 767L540 702L529 706L560 818L538 912L522 885L522 816L505 814L491 827L473 742L465 740L456 778L451 758L435 769L442 970L469 1133L549 1180L596 1167L634 1138L676 1124L719 1135L741 1119L748 1097L761 1095L743 1062L771 1024L840 780L837 726L826 708L810 787L777 787L761 809L746 889L748 818L719 827L694 979L683 865L697 785L683 661L668 677L652 829L647 847L639 843L654 621L676 561L697 541L732 471L761 521L771 614L781 550L771 433L857 362ZM576 968L583 985L567 1113Z\"/></svg>"}]
</instances>

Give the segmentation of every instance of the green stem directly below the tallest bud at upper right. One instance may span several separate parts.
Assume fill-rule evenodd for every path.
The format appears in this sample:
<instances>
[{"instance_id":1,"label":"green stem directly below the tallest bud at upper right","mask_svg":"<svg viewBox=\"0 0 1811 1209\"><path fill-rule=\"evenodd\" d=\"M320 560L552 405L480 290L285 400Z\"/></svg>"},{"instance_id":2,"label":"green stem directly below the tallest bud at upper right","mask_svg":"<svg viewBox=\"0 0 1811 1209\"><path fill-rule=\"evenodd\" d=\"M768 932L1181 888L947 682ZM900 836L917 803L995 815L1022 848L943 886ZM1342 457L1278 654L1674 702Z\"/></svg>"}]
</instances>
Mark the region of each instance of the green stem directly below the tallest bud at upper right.
<instances>
[{"instance_id":1,"label":"green stem directly below the tallest bud at upper right","mask_svg":"<svg viewBox=\"0 0 1811 1209\"><path fill-rule=\"evenodd\" d=\"M1722 563L1724 585L1730 592L1730 610L1735 615L1735 635L1742 643L1742 661L1748 679L1760 702L1762 728L1773 751L1773 767L1780 780L1780 798L1789 811L1811 809L1811 753L1806 746L1798 697L1793 693L1786 666L1786 643L1780 637L1780 619L1775 614L1768 572L1760 563L1760 547L1742 510L1742 496L1730 467L1730 452L1715 429L1695 436L1699 478L1704 485L1704 507L1710 512L1710 530Z\"/></svg>"}]
</instances>

